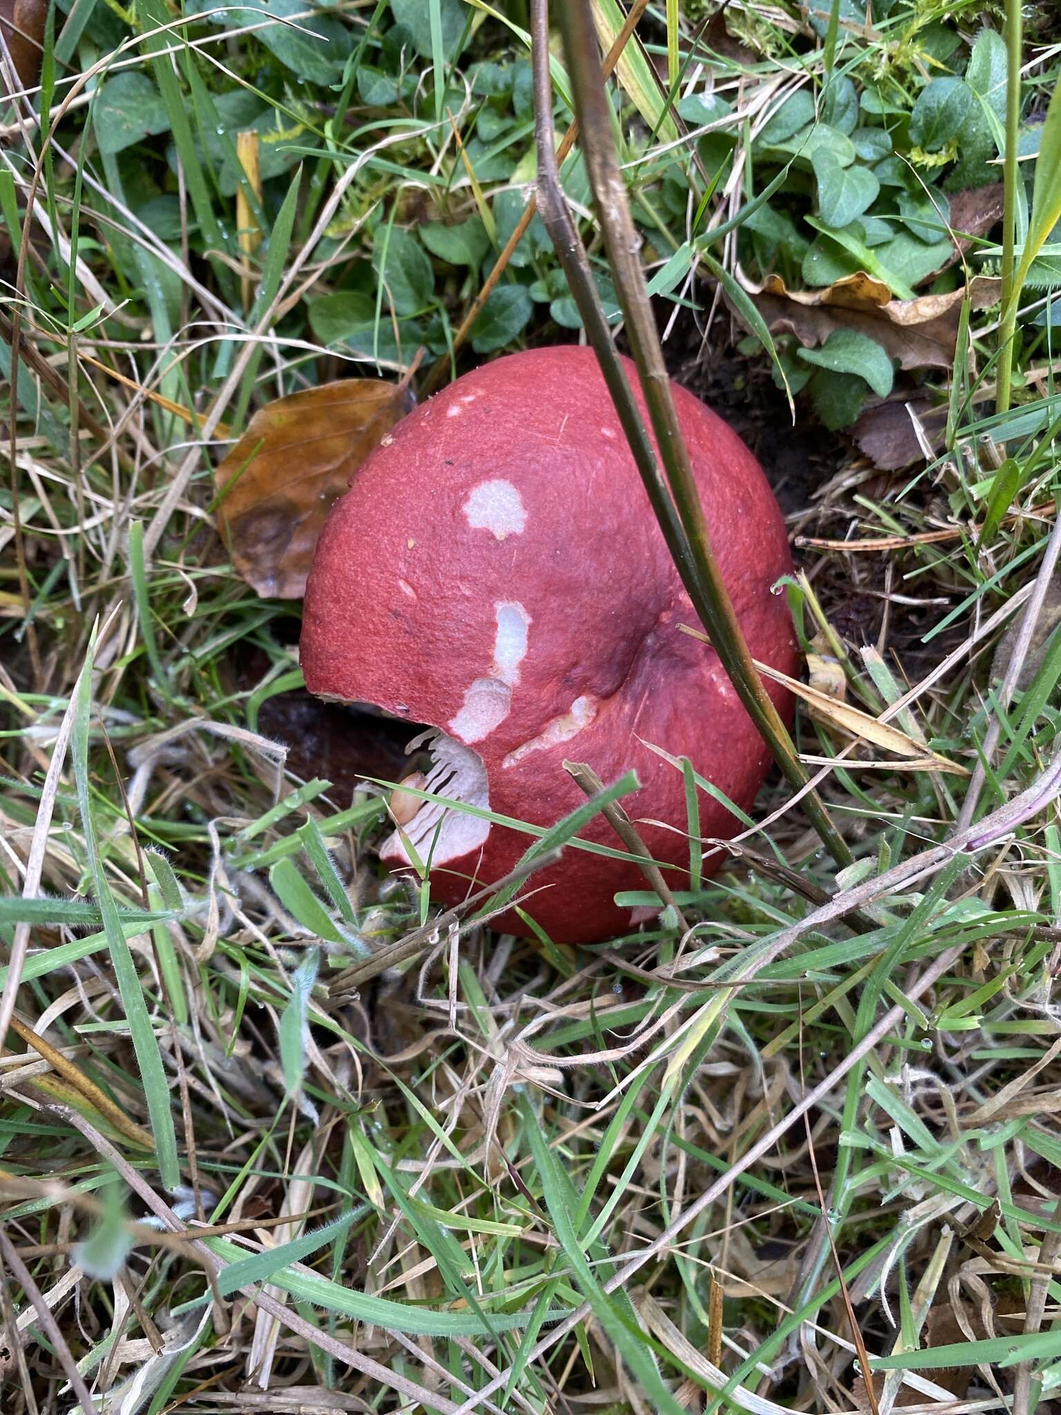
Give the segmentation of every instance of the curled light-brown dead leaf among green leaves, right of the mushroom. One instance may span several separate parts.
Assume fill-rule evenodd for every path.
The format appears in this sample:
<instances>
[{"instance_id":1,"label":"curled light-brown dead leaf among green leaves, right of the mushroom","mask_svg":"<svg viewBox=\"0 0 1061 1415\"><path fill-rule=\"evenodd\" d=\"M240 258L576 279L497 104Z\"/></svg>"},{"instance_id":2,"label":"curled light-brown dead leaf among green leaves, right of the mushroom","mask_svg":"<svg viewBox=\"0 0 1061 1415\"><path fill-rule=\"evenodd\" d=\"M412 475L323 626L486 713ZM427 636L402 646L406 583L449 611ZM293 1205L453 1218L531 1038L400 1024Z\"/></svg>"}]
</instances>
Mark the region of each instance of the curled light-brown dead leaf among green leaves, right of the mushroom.
<instances>
[{"instance_id":1,"label":"curled light-brown dead leaf among green leaves, right of the mushroom","mask_svg":"<svg viewBox=\"0 0 1061 1415\"><path fill-rule=\"evenodd\" d=\"M966 290L894 300L881 280L863 270L823 290L788 290L778 275L755 284L738 270L771 334L794 334L805 348L825 344L837 328L876 340L904 369L946 368L953 364L958 320ZM999 300L1000 282L975 276L969 297L975 310ZM736 311L734 311L736 313Z\"/></svg>"}]
</instances>

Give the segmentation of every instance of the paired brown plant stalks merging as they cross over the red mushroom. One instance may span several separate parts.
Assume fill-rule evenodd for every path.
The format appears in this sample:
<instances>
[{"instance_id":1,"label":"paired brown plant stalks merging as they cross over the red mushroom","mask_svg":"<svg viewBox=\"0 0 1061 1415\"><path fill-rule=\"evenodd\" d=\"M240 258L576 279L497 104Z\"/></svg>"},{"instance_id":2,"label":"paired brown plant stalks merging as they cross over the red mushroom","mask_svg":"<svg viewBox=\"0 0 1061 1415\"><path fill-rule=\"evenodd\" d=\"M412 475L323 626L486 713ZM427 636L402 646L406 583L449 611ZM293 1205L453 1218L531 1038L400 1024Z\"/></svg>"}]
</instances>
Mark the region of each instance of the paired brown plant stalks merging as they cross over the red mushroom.
<instances>
[{"instance_id":1,"label":"paired brown plant stalks merging as they cross over the red mushroom","mask_svg":"<svg viewBox=\"0 0 1061 1415\"><path fill-rule=\"evenodd\" d=\"M785 780L804 790L808 777L779 713L755 671L751 652L737 623L733 603L721 580L703 507L696 492L689 451L682 437L671 396L652 308L645 291L638 260L639 239L630 215L622 174L611 136L611 109L600 79L597 37L587 0L569 0L560 6L559 27L563 35L567 71L572 79L576 117L581 133L586 170L593 188L597 219L604 236L615 291L649 409L652 429L669 483L668 495L645 427L615 358L611 334L604 320L587 258L567 212L559 184L553 151L552 81L549 75L547 0L532 0L532 58L535 62L535 108L538 126L539 205L542 218L556 246L572 294L579 306L586 331L600 361L601 372L615 402L622 429L652 502L659 526L689 597L712 644L721 659L746 710L758 727ZM547 218L547 219L546 219ZM806 814L822 843L837 865L853 860L847 842L837 832L815 791L806 791Z\"/></svg>"}]
</instances>

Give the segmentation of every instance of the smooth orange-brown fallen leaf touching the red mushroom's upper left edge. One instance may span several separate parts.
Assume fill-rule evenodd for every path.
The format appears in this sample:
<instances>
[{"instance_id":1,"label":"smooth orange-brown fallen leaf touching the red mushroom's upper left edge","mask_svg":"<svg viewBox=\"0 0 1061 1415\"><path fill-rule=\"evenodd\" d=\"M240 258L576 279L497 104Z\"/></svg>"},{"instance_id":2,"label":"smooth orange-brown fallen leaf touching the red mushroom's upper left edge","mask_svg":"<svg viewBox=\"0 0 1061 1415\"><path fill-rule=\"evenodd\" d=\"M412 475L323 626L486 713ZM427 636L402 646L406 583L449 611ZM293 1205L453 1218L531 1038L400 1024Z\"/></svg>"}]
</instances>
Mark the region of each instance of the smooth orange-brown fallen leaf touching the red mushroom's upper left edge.
<instances>
[{"instance_id":1,"label":"smooth orange-brown fallen leaf touching the red mushroom's upper left edge","mask_svg":"<svg viewBox=\"0 0 1061 1415\"><path fill-rule=\"evenodd\" d=\"M409 410L407 392L344 378L277 398L215 471L232 562L259 594L297 600L332 502Z\"/></svg>"}]
</instances>

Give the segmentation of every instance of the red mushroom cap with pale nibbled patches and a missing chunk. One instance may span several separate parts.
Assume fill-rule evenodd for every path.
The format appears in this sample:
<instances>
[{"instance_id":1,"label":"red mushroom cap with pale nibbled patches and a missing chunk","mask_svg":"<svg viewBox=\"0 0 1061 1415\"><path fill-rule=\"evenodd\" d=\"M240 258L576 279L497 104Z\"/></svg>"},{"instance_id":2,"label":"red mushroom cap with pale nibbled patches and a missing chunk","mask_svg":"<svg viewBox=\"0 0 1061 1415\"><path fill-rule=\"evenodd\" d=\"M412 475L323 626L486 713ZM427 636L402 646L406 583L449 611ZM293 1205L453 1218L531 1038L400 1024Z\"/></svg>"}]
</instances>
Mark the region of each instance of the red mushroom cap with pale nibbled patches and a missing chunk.
<instances>
[{"instance_id":1,"label":"red mushroom cap with pale nibbled patches and a missing chunk","mask_svg":"<svg viewBox=\"0 0 1061 1415\"><path fill-rule=\"evenodd\" d=\"M637 391L637 374L627 374ZM755 658L792 672L796 645L774 583L792 570L785 526L740 437L672 385L712 543ZM645 416L638 392L638 403ZM645 417L648 424L648 419ZM624 798L673 889L688 887L688 757L747 812L770 756L717 655L680 631L696 614L673 567L591 350L514 354L414 409L334 505L306 591L301 664L310 692L369 702L439 729L427 790L550 826L584 797L563 770ZM767 683L778 709L791 698ZM700 833L741 821L700 792ZM403 812L405 814L405 812ZM532 838L430 807L405 825L430 853L434 897L457 903L519 860ZM597 816L581 839L621 843ZM398 832L383 857L409 863ZM721 852L705 860L706 872ZM622 931L617 890L638 867L577 848L529 880L521 904L553 940ZM529 934L509 910L495 925Z\"/></svg>"}]
</instances>

